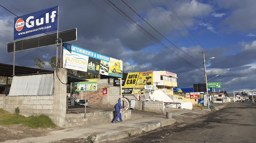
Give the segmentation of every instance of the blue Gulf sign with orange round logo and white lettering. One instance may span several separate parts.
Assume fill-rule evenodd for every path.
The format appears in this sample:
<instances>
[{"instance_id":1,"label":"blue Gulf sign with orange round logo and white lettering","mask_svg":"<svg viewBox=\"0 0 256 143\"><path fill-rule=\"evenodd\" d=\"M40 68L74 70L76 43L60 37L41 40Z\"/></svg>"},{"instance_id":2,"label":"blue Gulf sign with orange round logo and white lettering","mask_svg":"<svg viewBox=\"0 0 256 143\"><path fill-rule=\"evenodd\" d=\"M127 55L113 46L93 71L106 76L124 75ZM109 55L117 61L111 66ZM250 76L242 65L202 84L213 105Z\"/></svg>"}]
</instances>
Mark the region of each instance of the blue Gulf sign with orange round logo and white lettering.
<instances>
[{"instance_id":1,"label":"blue Gulf sign with orange round logo and white lettering","mask_svg":"<svg viewBox=\"0 0 256 143\"><path fill-rule=\"evenodd\" d=\"M58 6L14 18L13 39L58 30Z\"/></svg>"}]
</instances>

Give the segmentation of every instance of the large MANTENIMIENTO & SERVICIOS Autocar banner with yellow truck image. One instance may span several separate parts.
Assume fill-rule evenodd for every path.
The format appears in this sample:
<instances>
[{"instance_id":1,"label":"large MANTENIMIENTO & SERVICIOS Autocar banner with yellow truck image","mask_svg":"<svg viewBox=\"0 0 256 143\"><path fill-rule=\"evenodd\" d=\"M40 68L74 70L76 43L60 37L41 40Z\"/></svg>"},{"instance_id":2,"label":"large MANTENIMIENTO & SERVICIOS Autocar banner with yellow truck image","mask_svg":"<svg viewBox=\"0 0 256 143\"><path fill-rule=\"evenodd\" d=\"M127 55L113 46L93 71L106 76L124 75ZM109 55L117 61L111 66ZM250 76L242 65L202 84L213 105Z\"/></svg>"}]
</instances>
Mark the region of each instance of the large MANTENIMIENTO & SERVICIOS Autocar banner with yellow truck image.
<instances>
[{"instance_id":1,"label":"large MANTENIMIENTO & SERVICIOS Autocar banner with yellow truck image","mask_svg":"<svg viewBox=\"0 0 256 143\"><path fill-rule=\"evenodd\" d=\"M123 61L69 43L63 44L63 67L77 71L123 77Z\"/></svg>"}]
</instances>

